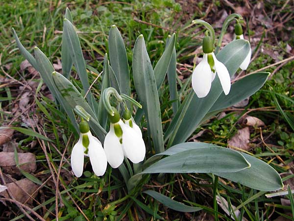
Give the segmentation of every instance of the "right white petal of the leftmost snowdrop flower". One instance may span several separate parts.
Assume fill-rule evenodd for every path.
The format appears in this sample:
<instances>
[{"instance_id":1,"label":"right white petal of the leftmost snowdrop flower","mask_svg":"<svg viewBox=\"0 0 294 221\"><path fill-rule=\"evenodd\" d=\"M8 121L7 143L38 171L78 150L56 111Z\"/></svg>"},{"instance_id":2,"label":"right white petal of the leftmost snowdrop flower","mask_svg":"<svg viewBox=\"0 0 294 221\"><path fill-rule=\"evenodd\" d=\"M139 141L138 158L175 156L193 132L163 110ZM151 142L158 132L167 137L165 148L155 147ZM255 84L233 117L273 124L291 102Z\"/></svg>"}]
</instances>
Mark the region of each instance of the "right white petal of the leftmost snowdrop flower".
<instances>
[{"instance_id":1,"label":"right white petal of the leftmost snowdrop flower","mask_svg":"<svg viewBox=\"0 0 294 221\"><path fill-rule=\"evenodd\" d=\"M97 176L104 175L107 168L107 158L101 142L95 138L90 138L89 157L94 173Z\"/></svg>"}]
</instances>

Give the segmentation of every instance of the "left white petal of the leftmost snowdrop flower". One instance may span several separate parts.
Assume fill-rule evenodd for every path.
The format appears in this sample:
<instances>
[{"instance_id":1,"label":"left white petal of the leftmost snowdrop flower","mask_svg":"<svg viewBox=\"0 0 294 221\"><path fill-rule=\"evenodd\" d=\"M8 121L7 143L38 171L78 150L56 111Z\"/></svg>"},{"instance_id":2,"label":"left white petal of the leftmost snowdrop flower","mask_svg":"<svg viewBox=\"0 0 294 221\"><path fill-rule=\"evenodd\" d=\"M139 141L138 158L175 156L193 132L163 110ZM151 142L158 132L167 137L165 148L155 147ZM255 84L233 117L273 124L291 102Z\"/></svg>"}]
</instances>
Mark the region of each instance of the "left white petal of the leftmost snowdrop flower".
<instances>
[{"instance_id":1,"label":"left white petal of the leftmost snowdrop flower","mask_svg":"<svg viewBox=\"0 0 294 221\"><path fill-rule=\"evenodd\" d=\"M79 138L78 142L73 146L71 165L74 175L80 177L83 174L84 167L84 146L81 138Z\"/></svg>"}]
</instances>

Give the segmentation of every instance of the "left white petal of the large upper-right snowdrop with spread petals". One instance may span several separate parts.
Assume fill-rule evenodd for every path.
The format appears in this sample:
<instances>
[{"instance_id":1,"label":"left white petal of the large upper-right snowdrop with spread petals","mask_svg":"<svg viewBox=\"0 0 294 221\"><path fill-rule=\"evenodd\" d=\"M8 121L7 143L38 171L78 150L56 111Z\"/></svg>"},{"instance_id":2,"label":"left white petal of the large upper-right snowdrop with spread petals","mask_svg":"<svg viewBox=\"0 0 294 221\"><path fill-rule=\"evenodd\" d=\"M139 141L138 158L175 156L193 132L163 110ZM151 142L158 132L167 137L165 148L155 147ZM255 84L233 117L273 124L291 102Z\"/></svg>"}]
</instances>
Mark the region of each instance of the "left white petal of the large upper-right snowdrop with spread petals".
<instances>
[{"instance_id":1,"label":"left white petal of the large upper-right snowdrop with spread petals","mask_svg":"<svg viewBox=\"0 0 294 221\"><path fill-rule=\"evenodd\" d=\"M211 87L212 71L207 61L207 54L203 55L202 61L196 66L192 74L192 87L197 97L205 97Z\"/></svg>"}]
</instances>

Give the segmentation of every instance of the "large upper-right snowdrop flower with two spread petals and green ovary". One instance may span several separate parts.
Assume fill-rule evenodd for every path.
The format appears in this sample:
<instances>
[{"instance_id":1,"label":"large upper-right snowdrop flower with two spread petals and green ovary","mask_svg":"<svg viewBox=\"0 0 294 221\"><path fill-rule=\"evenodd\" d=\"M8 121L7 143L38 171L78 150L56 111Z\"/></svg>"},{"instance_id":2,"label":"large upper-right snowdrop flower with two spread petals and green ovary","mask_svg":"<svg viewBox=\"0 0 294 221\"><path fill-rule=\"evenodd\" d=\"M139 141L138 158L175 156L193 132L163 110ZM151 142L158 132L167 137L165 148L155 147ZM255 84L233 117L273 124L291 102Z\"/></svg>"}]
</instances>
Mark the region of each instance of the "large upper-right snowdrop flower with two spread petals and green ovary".
<instances>
[{"instance_id":1,"label":"large upper-right snowdrop flower with two spread petals and green ovary","mask_svg":"<svg viewBox=\"0 0 294 221\"><path fill-rule=\"evenodd\" d=\"M230 75L224 64L216 58L211 37L203 38L202 49L203 59L192 74L192 87L197 97L202 98L209 93L216 74L218 74L224 94L227 95L231 89Z\"/></svg>"}]
</instances>

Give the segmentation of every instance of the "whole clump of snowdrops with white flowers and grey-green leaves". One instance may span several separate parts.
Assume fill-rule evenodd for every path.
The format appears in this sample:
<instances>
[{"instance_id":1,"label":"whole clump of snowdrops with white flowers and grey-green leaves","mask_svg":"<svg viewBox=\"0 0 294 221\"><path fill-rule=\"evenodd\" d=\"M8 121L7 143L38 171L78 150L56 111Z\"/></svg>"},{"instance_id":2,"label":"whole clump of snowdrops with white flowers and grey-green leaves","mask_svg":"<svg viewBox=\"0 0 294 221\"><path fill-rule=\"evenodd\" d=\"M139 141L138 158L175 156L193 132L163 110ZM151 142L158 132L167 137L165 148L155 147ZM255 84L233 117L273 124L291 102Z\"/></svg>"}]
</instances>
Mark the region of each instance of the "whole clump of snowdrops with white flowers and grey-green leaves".
<instances>
[{"instance_id":1,"label":"whole clump of snowdrops with white flowers and grey-green leaves","mask_svg":"<svg viewBox=\"0 0 294 221\"><path fill-rule=\"evenodd\" d=\"M84 159L88 156L97 176L108 171L107 162L118 168L121 175L114 175L117 179L123 178L132 196L141 192L142 185L152 178L147 174L152 173L161 173L161 176L166 173L209 173L214 177L211 182L215 182L215 187L218 185L216 177L220 176L260 191L282 188L281 177L275 169L251 155L225 145L186 142L203 122L254 94L269 76L267 72L259 72L230 83L230 78L240 67L247 68L251 55L250 44L243 39L240 24L235 28L236 40L221 48L225 30L236 18L242 19L240 15L232 14L224 21L217 47L213 27L202 20L194 21L194 24L204 25L208 32L202 41L203 59L189 79L193 89L186 88L187 84L177 84L175 34L168 36L165 51L157 62L150 61L144 36L139 35L133 48L132 67L129 68L123 37L119 29L112 26L102 79L90 86L89 79L92 78L89 78L90 72L87 72L69 9L66 10L62 33L62 74L55 72L48 57L37 47L34 56L31 55L13 30L20 52L40 73L60 105L60 111L69 117L66 123L71 123L69 128L78 140L71 153L75 176L83 176ZM81 81L81 90L72 83L72 66ZM133 87L130 86L131 76ZM161 105L164 82L170 93L167 105L166 102ZM92 93L92 87L99 93ZM181 94L185 95L183 98L178 94L179 87ZM171 116L165 127L162 126L162 112ZM76 116L84 120L78 124ZM147 128L147 133L142 134L140 127ZM144 140L149 145L146 146ZM144 193L162 199L160 193L151 190ZM179 204L172 199L166 200L164 198L161 202ZM183 211L182 206L180 204L180 211ZM172 208L177 209L177 206ZM193 211L198 210L200 208L193 208Z\"/></svg>"}]
</instances>

